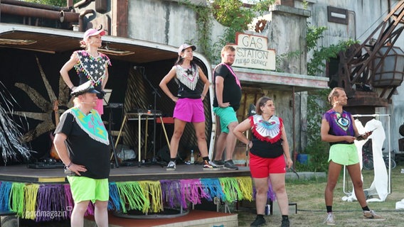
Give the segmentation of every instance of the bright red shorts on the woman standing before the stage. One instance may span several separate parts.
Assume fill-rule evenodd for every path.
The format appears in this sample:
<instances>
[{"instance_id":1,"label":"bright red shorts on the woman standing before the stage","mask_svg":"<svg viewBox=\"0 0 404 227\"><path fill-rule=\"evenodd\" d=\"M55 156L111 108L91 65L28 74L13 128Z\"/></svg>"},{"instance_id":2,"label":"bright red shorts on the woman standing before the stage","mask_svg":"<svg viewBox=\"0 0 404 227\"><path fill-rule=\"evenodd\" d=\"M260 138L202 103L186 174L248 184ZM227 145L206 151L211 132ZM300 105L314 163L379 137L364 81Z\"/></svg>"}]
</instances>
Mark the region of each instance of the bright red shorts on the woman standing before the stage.
<instances>
[{"instance_id":1,"label":"bright red shorts on the woman standing before the stage","mask_svg":"<svg viewBox=\"0 0 404 227\"><path fill-rule=\"evenodd\" d=\"M250 153L250 172L252 178L268 177L271 173L285 173L285 157L259 157Z\"/></svg>"}]
</instances>

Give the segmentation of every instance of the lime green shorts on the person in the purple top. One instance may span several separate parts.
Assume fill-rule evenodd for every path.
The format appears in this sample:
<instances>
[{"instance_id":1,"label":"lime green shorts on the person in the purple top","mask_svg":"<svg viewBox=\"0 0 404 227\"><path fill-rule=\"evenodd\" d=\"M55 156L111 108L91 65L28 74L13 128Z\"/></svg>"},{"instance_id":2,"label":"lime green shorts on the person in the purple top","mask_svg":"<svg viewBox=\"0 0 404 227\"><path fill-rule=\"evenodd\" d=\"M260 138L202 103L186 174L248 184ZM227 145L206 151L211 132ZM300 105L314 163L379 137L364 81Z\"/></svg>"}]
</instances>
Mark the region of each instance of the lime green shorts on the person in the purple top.
<instances>
[{"instance_id":1,"label":"lime green shorts on the person in the purple top","mask_svg":"<svg viewBox=\"0 0 404 227\"><path fill-rule=\"evenodd\" d=\"M329 161L339 165L359 163L359 155L355 144L334 144L329 148Z\"/></svg>"}]
</instances>

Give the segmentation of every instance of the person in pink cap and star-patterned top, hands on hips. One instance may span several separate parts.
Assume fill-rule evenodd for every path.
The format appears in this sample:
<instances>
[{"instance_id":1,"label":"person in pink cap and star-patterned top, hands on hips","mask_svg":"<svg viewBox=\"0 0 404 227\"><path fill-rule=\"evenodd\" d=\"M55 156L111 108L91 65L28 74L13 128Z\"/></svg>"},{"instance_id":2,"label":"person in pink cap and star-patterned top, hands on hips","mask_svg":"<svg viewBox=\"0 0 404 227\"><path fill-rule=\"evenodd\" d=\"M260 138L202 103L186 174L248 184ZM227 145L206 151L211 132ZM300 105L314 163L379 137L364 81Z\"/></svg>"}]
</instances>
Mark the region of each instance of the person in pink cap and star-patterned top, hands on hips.
<instances>
[{"instance_id":1,"label":"person in pink cap and star-patterned top, hands on hips","mask_svg":"<svg viewBox=\"0 0 404 227\"><path fill-rule=\"evenodd\" d=\"M83 40L80 41L80 47L85 50L76 50L70 56L70 60L63 65L60 69L60 75L68 85L68 87L74 91L75 86L71 82L68 72L75 68L75 71L79 77L79 85L84 84L87 81L91 81L97 92L97 106L95 110L98 114L104 114L103 109L103 97L105 84L108 81L108 65L111 65L110 58L98 52L98 48L102 45L101 37L105 35L105 31L90 28L85 31Z\"/></svg>"}]
</instances>

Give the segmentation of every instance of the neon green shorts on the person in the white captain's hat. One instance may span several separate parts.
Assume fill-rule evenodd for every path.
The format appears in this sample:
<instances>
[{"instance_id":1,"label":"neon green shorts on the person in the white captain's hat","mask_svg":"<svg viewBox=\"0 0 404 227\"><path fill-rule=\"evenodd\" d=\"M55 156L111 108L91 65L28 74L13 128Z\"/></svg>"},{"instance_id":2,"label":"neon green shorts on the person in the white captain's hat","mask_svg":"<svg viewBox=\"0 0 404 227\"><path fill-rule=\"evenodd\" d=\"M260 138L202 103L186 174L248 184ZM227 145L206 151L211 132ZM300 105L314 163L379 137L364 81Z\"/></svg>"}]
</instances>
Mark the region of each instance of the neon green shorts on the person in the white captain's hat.
<instances>
[{"instance_id":1,"label":"neon green shorts on the person in the white captain's hat","mask_svg":"<svg viewBox=\"0 0 404 227\"><path fill-rule=\"evenodd\" d=\"M70 191L75 203L90 200L108 201L110 199L110 187L108 179L92 179L89 177L68 177Z\"/></svg>"}]
</instances>

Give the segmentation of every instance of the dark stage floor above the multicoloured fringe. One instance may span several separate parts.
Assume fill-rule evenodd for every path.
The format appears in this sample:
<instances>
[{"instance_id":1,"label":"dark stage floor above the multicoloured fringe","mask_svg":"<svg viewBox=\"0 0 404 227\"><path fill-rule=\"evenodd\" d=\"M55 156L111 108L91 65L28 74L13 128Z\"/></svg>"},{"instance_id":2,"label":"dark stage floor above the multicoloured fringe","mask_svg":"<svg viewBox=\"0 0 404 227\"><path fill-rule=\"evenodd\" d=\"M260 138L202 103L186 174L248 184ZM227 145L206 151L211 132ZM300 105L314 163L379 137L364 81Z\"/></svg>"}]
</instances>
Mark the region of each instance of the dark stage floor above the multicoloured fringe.
<instances>
[{"instance_id":1,"label":"dark stage floor above the multicoloured fringe","mask_svg":"<svg viewBox=\"0 0 404 227\"><path fill-rule=\"evenodd\" d=\"M167 171L161 165L138 165L115 167L110 172L110 182L127 182L161 179L199 179L218 177L250 177L249 167L239 170L203 170L202 165L176 166L176 170ZM27 165L9 165L0 167L0 181L28 183L67 183L63 169L32 169Z\"/></svg>"}]
</instances>

